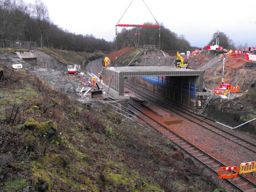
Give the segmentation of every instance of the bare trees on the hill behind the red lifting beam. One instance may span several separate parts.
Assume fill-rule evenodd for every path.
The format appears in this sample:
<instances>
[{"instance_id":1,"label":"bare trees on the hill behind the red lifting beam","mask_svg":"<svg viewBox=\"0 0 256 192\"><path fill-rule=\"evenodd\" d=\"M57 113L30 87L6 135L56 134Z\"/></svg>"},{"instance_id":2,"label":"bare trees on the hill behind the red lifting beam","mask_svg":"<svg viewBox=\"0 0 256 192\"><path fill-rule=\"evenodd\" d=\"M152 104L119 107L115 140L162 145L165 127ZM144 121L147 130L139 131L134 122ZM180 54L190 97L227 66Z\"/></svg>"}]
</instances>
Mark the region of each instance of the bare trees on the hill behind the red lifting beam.
<instances>
[{"instance_id":1,"label":"bare trees on the hill behind the red lifting beam","mask_svg":"<svg viewBox=\"0 0 256 192\"><path fill-rule=\"evenodd\" d=\"M155 25L153 23L144 23L146 25ZM190 46L190 43L184 35L178 35L170 29L160 25L160 49L164 51L188 51L195 50L198 47ZM135 33L137 32L137 35ZM158 28L122 28L122 31L117 34L114 43L117 43L117 49L127 46L138 45L159 45L159 29Z\"/></svg>"}]
</instances>

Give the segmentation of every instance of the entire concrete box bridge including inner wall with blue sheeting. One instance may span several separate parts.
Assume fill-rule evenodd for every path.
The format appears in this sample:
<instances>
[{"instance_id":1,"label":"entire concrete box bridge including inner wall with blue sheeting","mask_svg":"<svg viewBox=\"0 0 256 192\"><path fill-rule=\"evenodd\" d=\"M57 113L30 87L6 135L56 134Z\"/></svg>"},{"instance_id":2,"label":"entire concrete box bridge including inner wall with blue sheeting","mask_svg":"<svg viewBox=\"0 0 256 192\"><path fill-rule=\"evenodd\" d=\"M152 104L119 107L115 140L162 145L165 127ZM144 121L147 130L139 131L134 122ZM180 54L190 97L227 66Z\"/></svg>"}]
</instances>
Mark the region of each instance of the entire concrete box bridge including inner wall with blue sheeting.
<instances>
[{"instance_id":1,"label":"entire concrete box bridge including inner wall with blue sheeting","mask_svg":"<svg viewBox=\"0 0 256 192\"><path fill-rule=\"evenodd\" d=\"M103 68L102 80L110 88L124 95L124 80L142 89L193 108L204 102L204 71L172 67L111 67ZM196 99L197 97L197 99ZM201 98L200 98L201 97ZM199 100L199 102L197 101Z\"/></svg>"}]
</instances>

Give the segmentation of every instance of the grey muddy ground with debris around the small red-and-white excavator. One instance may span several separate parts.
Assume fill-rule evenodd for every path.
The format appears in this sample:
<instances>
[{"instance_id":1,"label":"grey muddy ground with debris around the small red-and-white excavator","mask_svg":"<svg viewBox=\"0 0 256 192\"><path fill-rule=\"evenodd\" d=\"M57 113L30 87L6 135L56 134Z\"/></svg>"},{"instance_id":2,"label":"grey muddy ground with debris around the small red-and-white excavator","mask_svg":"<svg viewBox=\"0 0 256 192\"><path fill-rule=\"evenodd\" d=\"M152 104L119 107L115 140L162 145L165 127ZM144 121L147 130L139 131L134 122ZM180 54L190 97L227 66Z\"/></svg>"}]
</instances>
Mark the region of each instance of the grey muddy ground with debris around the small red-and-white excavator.
<instances>
[{"instance_id":1,"label":"grey muddy ground with debris around the small red-and-white excavator","mask_svg":"<svg viewBox=\"0 0 256 192\"><path fill-rule=\"evenodd\" d=\"M67 72L66 65L43 51L37 49L33 49L33 51L36 53L36 59L21 60L14 53L0 53L0 58L1 61L6 62L9 68L12 68L12 64L22 64L23 69L36 74L69 97L78 99L81 102L90 102L95 104L94 107L99 107L97 101L80 98L76 95L75 90L78 86L86 86L82 79L89 80L85 73L84 76L66 75L64 74L64 72Z\"/></svg>"}]
</instances>

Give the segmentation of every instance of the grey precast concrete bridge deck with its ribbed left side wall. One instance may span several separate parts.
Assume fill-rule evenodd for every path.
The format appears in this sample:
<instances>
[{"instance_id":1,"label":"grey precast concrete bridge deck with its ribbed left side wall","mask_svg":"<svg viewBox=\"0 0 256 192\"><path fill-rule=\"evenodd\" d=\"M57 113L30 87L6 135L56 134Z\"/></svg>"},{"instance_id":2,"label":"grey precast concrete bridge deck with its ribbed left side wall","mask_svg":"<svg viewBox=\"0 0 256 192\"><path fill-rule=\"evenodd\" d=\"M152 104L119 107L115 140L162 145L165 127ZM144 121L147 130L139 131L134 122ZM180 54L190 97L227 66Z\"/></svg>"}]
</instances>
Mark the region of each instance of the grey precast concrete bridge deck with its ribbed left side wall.
<instances>
[{"instance_id":1,"label":"grey precast concrete bridge deck with its ribbed left side wall","mask_svg":"<svg viewBox=\"0 0 256 192\"><path fill-rule=\"evenodd\" d=\"M124 77L135 76L183 76L185 81L196 84L196 91L203 92L204 71L173 67L110 67L102 70L103 82L120 96L124 95Z\"/></svg>"}]
</instances>

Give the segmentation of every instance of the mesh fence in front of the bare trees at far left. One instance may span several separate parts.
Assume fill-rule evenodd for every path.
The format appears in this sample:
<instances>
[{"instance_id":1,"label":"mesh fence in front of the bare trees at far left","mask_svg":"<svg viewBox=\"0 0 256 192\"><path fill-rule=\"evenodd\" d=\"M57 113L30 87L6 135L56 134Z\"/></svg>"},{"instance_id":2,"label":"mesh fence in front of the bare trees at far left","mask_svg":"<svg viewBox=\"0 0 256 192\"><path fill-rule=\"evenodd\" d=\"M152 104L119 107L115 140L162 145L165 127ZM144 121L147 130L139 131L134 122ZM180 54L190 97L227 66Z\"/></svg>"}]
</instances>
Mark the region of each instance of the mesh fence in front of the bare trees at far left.
<instances>
[{"instance_id":1,"label":"mesh fence in front of the bare trees at far left","mask_svg":"<svg viewBox=\"0 0 256 192\"><path fill-rule=\"evenodd\" d=\"M0 48L36 48L40 47L35 41L2 40L0 39Z\"/></svg>"}]
</instances>

